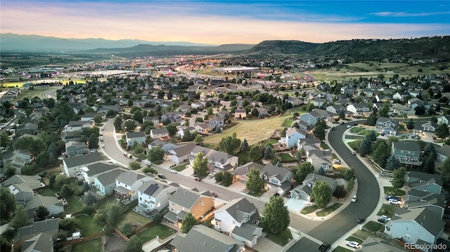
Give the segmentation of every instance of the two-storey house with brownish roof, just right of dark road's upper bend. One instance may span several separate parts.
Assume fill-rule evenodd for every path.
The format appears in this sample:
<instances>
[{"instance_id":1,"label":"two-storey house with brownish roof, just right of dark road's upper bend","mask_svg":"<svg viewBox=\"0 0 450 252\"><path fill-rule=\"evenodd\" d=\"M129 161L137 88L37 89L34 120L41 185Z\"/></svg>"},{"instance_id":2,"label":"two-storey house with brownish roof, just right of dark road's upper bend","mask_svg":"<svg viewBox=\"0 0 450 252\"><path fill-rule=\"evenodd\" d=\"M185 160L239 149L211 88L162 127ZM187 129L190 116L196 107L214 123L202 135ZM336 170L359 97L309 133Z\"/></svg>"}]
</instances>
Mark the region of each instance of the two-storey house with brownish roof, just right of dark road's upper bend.
<instances>
[{"instance_id":1,"label":"two-storey house with brownish roof, just right of dark road's upper bend","mask_svg":"<svg viewBox=\"0 0 450 252\"><path fill-rule=\"evenodd\" d=\"M400 140L392 142L391 154L400 164L420 166L420 146L417 141Z\"/></svg>"}]
</instances>

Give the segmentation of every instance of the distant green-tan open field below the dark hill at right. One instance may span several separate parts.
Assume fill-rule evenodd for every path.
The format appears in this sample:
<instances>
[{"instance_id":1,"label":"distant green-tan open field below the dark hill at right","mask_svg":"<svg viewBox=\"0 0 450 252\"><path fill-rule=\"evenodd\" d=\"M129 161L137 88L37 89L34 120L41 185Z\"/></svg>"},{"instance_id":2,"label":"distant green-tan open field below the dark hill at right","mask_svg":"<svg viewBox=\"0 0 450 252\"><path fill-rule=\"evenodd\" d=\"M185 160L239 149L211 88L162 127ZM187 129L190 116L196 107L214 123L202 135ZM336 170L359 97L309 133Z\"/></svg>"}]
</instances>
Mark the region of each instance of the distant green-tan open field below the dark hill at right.
<instances>
[{"instance_id":1,"label":"distant green-tan open field below the dark hill at right","mask_svg":"<svg viewBox=\"0 0 450 252\"><path fill-rule=\"evenodd\" d=\"M442 72L439 70L439 67L443 65L446 65L446 63L410 65L408 63L356 62L326 69L313 69L307 71L307 73L319 81L342 81L359 79L359 77L377 77L378 74L383 74L385 77L392 77L394 74L399 74L399 77L411 77ZM418 72L419 69L422 69L422 72Z\"/></svg>"}]
</instances>

